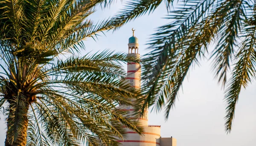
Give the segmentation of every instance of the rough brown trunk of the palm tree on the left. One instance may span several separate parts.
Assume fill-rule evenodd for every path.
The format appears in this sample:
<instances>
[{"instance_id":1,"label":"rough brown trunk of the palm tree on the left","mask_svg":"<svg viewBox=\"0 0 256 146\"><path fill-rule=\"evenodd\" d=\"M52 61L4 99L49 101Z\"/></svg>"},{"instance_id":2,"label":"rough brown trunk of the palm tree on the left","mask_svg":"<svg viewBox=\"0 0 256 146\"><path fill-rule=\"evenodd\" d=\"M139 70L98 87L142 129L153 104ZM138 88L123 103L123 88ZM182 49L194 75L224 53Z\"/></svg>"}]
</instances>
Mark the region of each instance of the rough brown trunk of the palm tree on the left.
<instances>
[{"instance_id":1,"label":"rough brown trunk of the palm tree on the left","mask_svg":"<svg viewBox=\"0 0 256 146\"><path fill-rule=\"evenodd\" d=\"M28 101L26 99L9 100L9 104L5 146L26 146Z\"/></svg>"}]
</instances>

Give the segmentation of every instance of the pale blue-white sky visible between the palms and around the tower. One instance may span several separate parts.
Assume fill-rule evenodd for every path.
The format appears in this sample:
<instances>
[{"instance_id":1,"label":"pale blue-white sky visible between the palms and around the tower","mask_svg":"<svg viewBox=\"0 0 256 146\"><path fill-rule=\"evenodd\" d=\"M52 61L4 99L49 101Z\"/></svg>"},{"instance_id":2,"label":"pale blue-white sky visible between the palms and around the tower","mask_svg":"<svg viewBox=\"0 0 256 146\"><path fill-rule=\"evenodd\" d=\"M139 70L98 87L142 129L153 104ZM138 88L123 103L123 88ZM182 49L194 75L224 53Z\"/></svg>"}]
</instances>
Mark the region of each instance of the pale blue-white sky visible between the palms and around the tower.
<instances>
[{"instance_id":1,"label":"pale blue-white sky visible between the palms and around the tower","mask_svg":"<svg viewBox=\"0 0 256 146\"><path fill-rule=\"evenodd\" d=\"M90 17L101 20L113 16L124 3L125 1L118 1L110 8L96 11ZM128 22L117 31L105 32L106 36L102 35L96 41L92 38L86 39L86 50L81 55L104 49L128 53L131 28L136 29L134 35L139 39L139 53L144 55L148 47L145 44L150 40L150 35L158 26L169 22L163 18L166 14L165 5L162 3L153 14L146 14ZM210 60L203 59L200 65L191 68L183 81L182 90L169 119L165 120L164 112L151 112L148 124L161 125L161 137L176 138L177 146L256 146L256 81L241 91L232 131L226 134L224 90L214 79L211 65ZM0 146L4 146L6 123L3 117L0 125Z\"/></svg>"}]
</instances>

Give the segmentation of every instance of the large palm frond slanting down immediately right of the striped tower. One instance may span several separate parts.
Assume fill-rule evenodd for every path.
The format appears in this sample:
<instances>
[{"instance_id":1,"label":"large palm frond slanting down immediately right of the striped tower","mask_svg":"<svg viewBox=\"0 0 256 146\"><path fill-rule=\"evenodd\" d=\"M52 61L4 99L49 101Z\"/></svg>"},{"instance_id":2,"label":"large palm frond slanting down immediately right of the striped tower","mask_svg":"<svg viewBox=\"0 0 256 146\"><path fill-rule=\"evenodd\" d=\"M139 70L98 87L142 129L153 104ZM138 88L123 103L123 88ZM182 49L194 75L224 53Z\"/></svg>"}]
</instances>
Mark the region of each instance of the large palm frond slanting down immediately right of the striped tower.
<instances>
[{"instance_id":1,"label":"large palm frond slanting down immediately right of the striped tower","mask_svg":"<svg viewBox=\"0 0 256 146\"><path fill-rule=\"evenodd\" d=\"M147 64L143 66L143 88L146 94L143 109L155 104L157 111L160 111L166 100L166 118L168 117L190 65L198 62L214 37L216 28L221 24L211 24L206 17L205 13L209 12L213 3L214 1L208 0L192 2L188 7L174 11L175 23L180 25L165 25L159 28L159 33L154 34L155 38L151 42L153 51L149 54ZM205 9L200 11L201 8ZM194 20L193 23L189 23L191 20Z\"/></svg>"}]
</instances>

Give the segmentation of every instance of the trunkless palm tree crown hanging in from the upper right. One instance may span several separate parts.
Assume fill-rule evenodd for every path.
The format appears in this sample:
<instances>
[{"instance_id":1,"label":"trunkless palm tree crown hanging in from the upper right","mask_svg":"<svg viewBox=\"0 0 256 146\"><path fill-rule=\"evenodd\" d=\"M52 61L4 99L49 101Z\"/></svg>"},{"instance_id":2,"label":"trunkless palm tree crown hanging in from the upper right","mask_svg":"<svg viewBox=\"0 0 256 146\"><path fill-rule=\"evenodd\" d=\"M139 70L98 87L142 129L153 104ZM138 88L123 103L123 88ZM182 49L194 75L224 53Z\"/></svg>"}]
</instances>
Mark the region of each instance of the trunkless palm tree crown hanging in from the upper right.
<instances>
[{"instance_id":1,"label":"trunkless palm tree crown hanging in from the upper right","mask_svg":"<svg viewBox=\"0 0 256 146\"><path fill-rule=\"evenodd\" d=\"M225 129L229 133L242 88L256 77L256 21L254 0L136 0L117 15L119 27L166 3L170 22L149 41L143 66L145 100L166 118L175 104L183 79L193 65L211 52L215 78L225 87ZM209 51L209 45L215 45ZM230 67L230 66L234 67ZM231 70L231 78L227 74ZM142 78L142 79L143 79ZM142 110L143 111L143 110Z\"/></svg>"}]
</instances>

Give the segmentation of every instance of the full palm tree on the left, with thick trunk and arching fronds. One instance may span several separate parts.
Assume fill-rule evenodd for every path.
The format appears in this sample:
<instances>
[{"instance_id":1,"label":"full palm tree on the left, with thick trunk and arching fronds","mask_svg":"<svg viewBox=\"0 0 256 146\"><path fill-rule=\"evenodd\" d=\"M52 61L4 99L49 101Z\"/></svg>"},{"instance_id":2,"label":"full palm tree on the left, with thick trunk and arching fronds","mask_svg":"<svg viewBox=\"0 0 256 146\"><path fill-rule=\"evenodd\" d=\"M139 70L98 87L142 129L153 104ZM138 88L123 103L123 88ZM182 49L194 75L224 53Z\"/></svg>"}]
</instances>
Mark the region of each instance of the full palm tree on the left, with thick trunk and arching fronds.
<instances>
[{"instance_id":1,"label":"full palm tree on the left, with thick trunk and arching fronds","mask_svg":"<svg viewBox=\"0 0 256 146\"><path fill-rule=\"evenodd\" d=\"M105 0L0 1L0 109L7 117L5 146L115 146L137 123L116 110L134 105L138 91L125 77L124 53L75 55L82 39L117 21L87 17ZM65 54L68 54L65 55ZM7 112L6 112L7 111Z\"/></svg>"}]
</instances>

